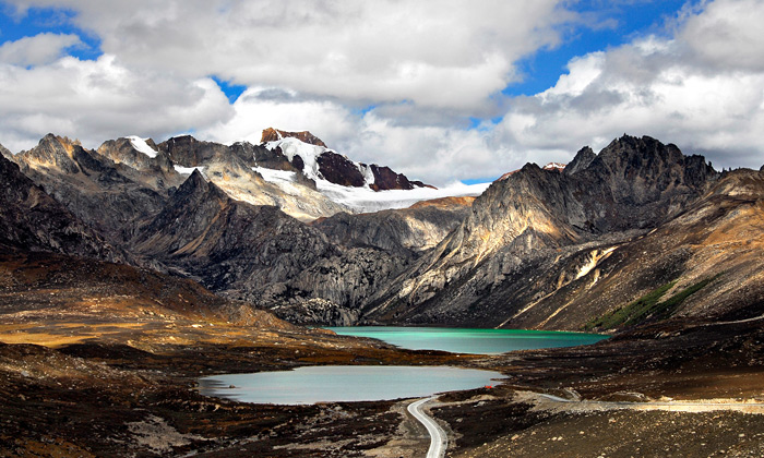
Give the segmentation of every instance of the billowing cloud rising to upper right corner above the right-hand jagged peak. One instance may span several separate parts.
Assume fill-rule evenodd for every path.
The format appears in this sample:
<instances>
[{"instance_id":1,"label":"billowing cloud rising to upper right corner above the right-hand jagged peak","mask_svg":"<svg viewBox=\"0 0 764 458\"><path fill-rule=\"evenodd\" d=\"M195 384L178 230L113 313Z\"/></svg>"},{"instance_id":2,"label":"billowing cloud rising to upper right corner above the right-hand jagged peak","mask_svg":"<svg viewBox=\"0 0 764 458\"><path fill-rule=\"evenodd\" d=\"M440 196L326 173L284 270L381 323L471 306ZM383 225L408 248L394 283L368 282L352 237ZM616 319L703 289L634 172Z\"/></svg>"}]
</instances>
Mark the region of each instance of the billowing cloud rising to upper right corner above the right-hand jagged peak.
<instances>
[{"instance_id":1,"label":"billowing cloud rising to upper right corner above the right-hand jagged peak","mask_svg":"<svg viewBox=\"0 0 764 458\"><path fill-rule=\"evenodd\" d=\"M517 98L496 135L540 152L604 147L628 132L705 154L717 167L764 161L764 2L718 0L672 37L573 59L556 86Z\"/></svg>"}]
</instances>

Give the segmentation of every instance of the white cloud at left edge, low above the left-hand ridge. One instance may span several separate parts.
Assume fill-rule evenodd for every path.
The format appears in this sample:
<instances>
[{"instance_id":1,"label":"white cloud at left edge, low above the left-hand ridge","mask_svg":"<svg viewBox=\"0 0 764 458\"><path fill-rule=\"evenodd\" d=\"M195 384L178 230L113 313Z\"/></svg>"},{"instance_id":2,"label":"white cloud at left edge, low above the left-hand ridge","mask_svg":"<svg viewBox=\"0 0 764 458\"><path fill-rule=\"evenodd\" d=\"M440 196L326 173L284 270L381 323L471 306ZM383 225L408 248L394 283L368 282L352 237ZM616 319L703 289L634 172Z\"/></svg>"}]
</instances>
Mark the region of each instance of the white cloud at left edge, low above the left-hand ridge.
<instances>
[{"instance_id":1,"label":"white cloud at left edge, low above the left-hand ridge","mask_svg":"<svg viewBox=\"0 0 764 458\"><path fill-rule=\"evenodd\" d=\"M127 133L163 137L201 129L231 114L210 79L135 72L109 55L29 69L0 64L0 138L14 152L48 132L95 147Z\"/></svg>"}]
</instances>

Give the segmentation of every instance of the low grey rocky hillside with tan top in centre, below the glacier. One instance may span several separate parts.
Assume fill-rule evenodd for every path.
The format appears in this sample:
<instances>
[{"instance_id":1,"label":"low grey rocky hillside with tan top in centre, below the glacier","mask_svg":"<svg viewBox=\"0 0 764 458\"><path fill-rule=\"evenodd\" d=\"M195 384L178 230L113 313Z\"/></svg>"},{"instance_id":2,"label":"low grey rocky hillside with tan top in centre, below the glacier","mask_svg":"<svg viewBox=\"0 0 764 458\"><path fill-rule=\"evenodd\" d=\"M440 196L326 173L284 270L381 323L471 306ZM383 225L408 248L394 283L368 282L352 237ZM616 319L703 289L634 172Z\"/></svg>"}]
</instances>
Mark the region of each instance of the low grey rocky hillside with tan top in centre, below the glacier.
<instances>
[{"instance_id":1,"label":"low grey rocky hillside with tan top in centre, below the glacier","mask_svg":"<svg viewBox=\"0 0 764 458\"><path fill-rule=\"evenodd\" d=\"M270 308L294 323L357 324L370 298L456 227L471 201L444 198L416 208L338 214L317 221L313 226L329 236L338 254L320 258L286 281L227 294Z\"/></svg>"}]
</instances>

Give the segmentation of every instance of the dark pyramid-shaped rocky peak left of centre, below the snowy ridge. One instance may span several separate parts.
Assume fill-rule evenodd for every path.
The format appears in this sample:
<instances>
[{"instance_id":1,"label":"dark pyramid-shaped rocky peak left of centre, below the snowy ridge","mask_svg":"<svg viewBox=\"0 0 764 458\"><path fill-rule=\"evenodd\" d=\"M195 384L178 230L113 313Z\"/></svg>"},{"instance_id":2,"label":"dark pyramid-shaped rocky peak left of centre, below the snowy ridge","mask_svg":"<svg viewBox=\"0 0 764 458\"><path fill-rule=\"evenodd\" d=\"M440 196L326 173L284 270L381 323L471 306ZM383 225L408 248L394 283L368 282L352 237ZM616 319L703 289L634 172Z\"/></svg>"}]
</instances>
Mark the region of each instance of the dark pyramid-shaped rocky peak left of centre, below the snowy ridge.
<instances>
[{"instance_id":1,"label":"dark pyramid-shaped rocky peak left of centre, below the snowy ridge","mask_svg":"<svg viewBox=\"0 0 764 458\"><path fill-rule=\"evenodd\" d=\"M234 201L199 171L131 245L218 291L284 281L334 253L318 230L275 207Z\"/></svg>"}]
</instances>

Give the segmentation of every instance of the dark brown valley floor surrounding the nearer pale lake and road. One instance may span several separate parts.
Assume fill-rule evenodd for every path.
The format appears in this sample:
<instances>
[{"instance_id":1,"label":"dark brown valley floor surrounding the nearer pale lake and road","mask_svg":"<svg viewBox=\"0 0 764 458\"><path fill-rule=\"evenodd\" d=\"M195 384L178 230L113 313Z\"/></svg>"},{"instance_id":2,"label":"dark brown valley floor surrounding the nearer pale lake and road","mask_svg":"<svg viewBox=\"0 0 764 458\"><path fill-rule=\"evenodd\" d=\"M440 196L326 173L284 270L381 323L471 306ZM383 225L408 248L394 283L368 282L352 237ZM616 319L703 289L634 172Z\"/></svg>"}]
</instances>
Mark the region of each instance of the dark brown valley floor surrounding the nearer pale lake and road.
<instances>
[{"instance_id":1,"label":"dark brown valley floor surrounding the nearer pale lake and road","mask_svg":"<svg viewBox=\"0 0 764 458\"><path fill-rule=\"evenodd\" d=\"M648 328L590 347L457 357L300 328L210 326L150 314L127 326L108 314L59 314L3 317L0 341L16 343L0 345L1 456L425 456L430 439L406 412L410 400L278 407L195 390L198 376L214 373L380 363L508 375L494 388L443 395L428 407L449 432L449 457L764 453L761 409L637 410L668 398L764 402L764 330L755 321L677 325L668 336L665 327Z\"/></svg>"}]
</instances>

